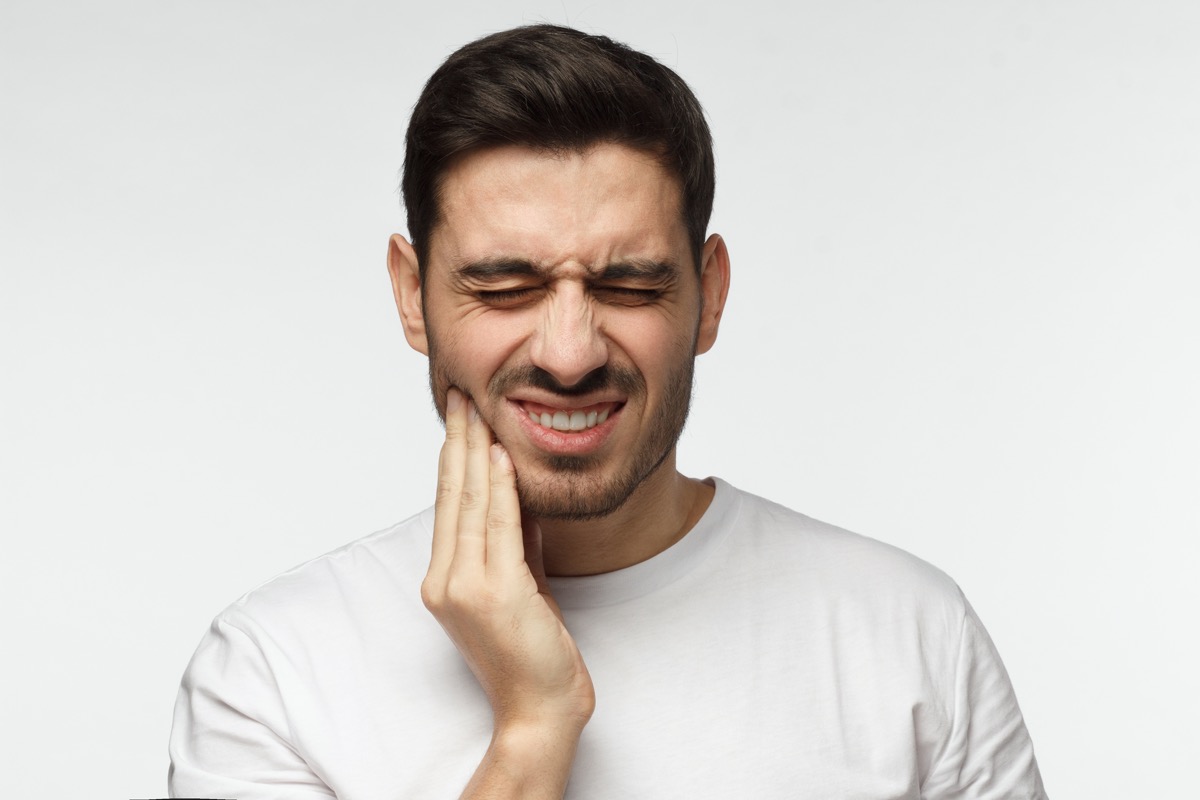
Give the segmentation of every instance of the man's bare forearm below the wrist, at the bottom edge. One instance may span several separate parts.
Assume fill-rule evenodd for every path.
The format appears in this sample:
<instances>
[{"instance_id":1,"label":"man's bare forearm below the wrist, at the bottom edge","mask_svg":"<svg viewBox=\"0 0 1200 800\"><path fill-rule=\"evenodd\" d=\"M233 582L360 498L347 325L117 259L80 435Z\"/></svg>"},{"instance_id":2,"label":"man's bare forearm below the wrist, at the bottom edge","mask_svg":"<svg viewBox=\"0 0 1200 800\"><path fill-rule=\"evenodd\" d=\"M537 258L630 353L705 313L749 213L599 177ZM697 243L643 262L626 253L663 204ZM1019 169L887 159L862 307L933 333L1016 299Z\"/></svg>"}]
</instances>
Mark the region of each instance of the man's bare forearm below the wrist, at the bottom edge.
<instances>
[{"instance_id":1,"label":"man's bare forearm below the wrist, at the bottom edge","mask_svg":"<svg viewBox=\"0 0 1200 800\"><path fill-rule=\"evenodd\" d=\"M582 724L497 729L462 800L559 800Z\"/></svg>"}]
</instances>

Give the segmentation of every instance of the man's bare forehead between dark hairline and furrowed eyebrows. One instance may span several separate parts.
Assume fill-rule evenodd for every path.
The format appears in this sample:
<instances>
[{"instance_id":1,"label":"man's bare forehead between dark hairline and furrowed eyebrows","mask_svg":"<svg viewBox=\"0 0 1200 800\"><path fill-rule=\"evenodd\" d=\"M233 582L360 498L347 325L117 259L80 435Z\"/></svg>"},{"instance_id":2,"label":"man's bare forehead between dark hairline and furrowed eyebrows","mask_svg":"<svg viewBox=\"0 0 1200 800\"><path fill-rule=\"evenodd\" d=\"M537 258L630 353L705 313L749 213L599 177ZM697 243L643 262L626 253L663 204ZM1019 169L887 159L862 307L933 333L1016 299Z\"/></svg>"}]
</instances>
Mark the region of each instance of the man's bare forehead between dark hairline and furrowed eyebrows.
<instances>
[{"instance_id":1,"label":"man's bare forehead between dark hairline and furrowed eyebrows","mask_svg":"<svg viewBox=\"0 0 1200 800\"><path fill-rule=\"evenodd\" d=\"M688 260L679 181L649 152L491 148L442 181L430 260L449 266L520 258L553 267L622 259Z\"/></svg>"}]
</instances>

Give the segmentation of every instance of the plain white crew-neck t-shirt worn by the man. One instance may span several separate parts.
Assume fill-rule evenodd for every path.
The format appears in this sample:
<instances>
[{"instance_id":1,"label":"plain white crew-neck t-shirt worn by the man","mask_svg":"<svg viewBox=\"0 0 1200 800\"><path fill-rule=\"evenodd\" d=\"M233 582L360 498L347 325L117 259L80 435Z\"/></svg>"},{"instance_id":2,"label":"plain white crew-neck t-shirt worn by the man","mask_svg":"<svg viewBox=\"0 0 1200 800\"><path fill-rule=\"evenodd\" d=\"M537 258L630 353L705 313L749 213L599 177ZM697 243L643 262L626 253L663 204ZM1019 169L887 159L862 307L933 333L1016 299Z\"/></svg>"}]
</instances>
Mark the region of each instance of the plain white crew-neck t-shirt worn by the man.
<instances>
[{"instance_id":1,"label":"plain white crew-neck t-shirt worn by the man","mask_svg":"<svg viewBox=\"0 0 1200 800\"><path fill-rule=\"evenodd\" d=\"M715 480L655 558L552 578L596 710L566 796L1044 798L958 587ZM184 675L173 796L456 798L487 699L421 604L433 512L251 591Z\"/></svg>"}]
</instances>

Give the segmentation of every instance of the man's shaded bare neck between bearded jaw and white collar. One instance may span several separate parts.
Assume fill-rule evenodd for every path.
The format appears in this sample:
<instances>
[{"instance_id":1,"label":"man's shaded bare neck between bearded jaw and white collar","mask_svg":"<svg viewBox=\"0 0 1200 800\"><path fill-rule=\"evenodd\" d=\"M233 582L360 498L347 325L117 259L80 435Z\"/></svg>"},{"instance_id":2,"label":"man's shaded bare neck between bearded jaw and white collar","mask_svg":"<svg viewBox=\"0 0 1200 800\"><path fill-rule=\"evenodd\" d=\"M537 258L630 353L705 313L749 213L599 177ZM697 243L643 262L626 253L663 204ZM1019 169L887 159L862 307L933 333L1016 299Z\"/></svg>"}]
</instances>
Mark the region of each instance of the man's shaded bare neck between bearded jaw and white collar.
<instances>
[{"instance_id":1,"label":"man's shaded bare neck between bearded jaw and white collar","mask_svg":"<svg viewBox=\"0 0 1200 800\"><path fill-rule=\"evenodd\" d=\"M598 575L654 558L695 527L713 492L680 475L671 453L611 515L582 522L539 519L546 575Z\"/></svg>"}]
</instances>

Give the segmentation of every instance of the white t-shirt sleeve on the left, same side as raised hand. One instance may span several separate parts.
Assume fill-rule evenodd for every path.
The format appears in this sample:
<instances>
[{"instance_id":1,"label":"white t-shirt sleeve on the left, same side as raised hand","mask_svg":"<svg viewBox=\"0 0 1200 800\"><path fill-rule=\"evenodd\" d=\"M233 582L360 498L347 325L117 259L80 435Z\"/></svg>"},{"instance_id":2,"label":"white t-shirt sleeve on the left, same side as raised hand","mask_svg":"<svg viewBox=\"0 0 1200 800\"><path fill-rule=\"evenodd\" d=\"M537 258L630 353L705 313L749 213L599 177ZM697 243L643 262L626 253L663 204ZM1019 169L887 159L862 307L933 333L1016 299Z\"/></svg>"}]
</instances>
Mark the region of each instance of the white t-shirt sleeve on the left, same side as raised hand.
<instances>
[{"instance_id":1,"label":"white t-shirt sleeve on the left, same side as raised hand","mask_svg":"<svg viewBox=\"0 0 1200 800\"><path fill-rule=\"evenodd\" d=\"M170 796L334 798L290 741L287 710L262 649L218 616L192 656L175 702Z\"/></svg>"}]
</instances>

